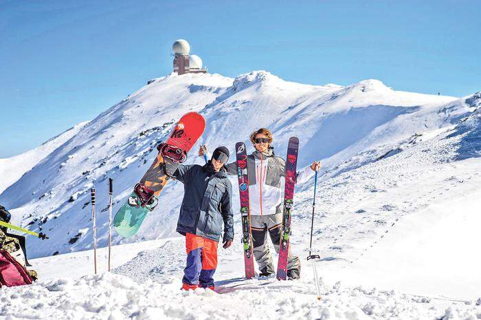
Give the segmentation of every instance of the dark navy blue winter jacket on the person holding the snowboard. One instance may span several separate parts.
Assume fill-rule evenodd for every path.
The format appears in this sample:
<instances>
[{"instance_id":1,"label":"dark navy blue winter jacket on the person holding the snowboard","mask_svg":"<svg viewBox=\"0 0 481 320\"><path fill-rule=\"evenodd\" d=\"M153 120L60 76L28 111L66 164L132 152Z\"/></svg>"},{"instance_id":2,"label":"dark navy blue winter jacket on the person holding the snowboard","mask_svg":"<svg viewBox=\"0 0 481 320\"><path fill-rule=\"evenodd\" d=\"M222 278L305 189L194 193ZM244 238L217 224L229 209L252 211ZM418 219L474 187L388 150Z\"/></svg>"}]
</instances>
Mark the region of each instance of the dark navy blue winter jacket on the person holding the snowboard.
<instances>
[{"instance_id":1,"label":"dark navy blue winter jacket on the person holding the snowboard","mask_svg":"<svg viewBox=\"0 0 481 320\"><path fill-rule=\"evenodd\" d=\"M210 162L204 166L181 164L174 177L184 185L177 232L219 241L224 224L223 241L232 241L232 184L225 169L216 173Z\"/></svg>"}]
</instances>

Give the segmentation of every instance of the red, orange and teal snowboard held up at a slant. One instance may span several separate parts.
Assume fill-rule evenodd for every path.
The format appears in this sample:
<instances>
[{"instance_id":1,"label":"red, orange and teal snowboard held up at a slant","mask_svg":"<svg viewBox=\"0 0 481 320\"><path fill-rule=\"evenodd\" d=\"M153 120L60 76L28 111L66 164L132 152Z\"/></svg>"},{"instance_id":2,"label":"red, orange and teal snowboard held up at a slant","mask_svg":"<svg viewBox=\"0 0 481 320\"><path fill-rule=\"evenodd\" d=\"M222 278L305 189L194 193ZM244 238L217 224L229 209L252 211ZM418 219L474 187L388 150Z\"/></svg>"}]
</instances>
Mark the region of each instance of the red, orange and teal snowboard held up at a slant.
<instances>
[{"instance_id":1,"label":"red, orange and teal snowboard held up at a slant","mask_svg":"<svg viewBox=\"0 0 481 320\"><path fill-rule=\"evenodd\" d=\"M186 160L204 128L203 116L189 112L181 117L167 141L157 146L157 158L113 218L113 227L120 236L128 238L137 233L148 212L159 204L157 197L179 164Z\"/></svg>"}]
</instances>

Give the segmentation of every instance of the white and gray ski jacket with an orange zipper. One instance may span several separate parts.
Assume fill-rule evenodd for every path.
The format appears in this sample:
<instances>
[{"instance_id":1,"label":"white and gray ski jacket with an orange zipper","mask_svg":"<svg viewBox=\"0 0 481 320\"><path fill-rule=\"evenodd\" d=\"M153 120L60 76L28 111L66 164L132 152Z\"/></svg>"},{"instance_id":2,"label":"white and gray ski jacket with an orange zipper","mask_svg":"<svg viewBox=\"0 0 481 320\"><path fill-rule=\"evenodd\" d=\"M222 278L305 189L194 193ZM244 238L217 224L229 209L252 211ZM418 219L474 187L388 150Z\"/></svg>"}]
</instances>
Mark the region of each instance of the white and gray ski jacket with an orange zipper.
<instances>
[{"instance_id":1,"label":"white and gray ski jacket with an orange zipper","mask_svg":"<svg viewBox=\"0 0 481 320\"><path fill-rule=\"evenodd\" d=\"M227 173L237 175L237 164L226 164ZM297 172L296 183L304 183L314 175L311 167ZM250 212L254 216L282 212L283 189L281 178L286 176L286 160L274 156L271 149L247 156Z\"/></svg>"}]
</instances>

